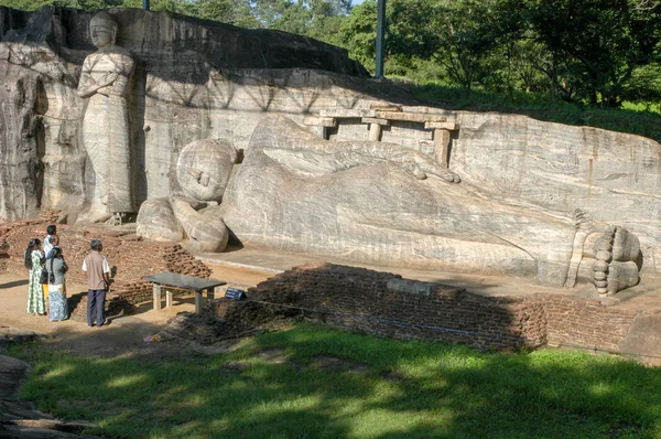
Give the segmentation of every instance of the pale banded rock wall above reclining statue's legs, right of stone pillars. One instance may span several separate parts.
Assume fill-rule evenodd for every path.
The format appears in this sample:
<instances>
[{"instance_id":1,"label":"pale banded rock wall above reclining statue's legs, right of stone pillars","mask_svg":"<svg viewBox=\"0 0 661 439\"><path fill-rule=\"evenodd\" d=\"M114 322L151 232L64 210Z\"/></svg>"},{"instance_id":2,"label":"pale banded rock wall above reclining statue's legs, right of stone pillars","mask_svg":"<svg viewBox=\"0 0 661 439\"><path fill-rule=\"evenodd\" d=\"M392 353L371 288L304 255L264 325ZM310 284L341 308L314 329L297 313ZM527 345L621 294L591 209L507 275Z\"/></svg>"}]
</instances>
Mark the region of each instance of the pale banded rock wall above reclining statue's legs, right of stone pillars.
<instances>
[{"instance_id":1,"label":"pale banded rock wall above reclining statue's legs, right of stone pillars","mask_svg":"<svg viewBox=\"0 0 661 439\"><path fill-rule=\"evenodd\" d=\"M528 117L459 113L449 169L490 200L618 224L661 271L661 146L650 139Z\"/></svg>"}]
</instances>

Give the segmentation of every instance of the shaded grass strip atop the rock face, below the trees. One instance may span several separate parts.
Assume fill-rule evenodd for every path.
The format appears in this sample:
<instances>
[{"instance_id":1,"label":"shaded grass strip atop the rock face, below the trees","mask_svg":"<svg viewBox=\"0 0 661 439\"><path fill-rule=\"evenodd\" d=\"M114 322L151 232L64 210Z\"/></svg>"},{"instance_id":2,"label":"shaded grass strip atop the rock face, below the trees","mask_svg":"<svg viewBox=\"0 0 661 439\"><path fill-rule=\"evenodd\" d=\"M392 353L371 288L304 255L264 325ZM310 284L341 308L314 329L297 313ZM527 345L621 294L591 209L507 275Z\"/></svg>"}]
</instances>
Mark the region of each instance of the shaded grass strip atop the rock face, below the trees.
<instances>
[{"instance_id":1,"label":"shaded grass strip atop the rock face, below the trees","mask_svg":"<svg viewBox=\"0 0 661 439\"><path fill-rule=\"evenodd\" d=\"M517 93L513 96L465 89L441 84L410 85L414 96L436 101L447 109L498 111L530 116L538 120L589 126L648 137L661 142L661 104L624 103L621 109L551 101L544 95Z\"/></svg>"}]
</instances>

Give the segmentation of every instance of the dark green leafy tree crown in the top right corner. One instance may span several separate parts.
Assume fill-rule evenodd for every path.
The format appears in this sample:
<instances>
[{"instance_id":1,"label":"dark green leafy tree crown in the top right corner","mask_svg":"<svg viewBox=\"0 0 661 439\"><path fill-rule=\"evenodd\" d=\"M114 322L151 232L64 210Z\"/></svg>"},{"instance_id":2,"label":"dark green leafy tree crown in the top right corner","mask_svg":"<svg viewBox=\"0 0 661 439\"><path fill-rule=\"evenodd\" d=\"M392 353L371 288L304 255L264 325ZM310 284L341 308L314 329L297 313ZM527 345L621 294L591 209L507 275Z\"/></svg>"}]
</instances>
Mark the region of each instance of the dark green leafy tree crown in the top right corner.
<instances>
[{"instance_id":1,"label":"dark green leafy tree crown in the top right corner","mask_svg":"<svg viewBox=\"0 0 661 439\"><path fill-rule=\"evenodd\" d=\"M527 24L552 57L554 84L576 83L592 105L617 107L660 41L661 7L641 0L524 0Z\"/></svg>"}]
</instances>

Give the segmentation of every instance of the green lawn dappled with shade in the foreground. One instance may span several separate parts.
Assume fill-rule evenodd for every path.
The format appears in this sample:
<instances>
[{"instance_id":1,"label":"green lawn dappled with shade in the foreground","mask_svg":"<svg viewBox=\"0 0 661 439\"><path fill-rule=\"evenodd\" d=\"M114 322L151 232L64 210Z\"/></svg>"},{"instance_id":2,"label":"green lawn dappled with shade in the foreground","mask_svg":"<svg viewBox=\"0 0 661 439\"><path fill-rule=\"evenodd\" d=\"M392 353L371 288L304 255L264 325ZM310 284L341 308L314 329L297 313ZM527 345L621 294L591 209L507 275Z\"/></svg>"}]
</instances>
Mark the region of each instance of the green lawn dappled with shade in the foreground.
<instances>
[{"instance_id":1,"label":"green lawn dappled with shade in the foreground","mask_svg":"<svg viewBox=\"0 0 661 439\"><path fill-rule=\"evenodd\" d=\"M288 362L259 355L274 347ZM33 364L24 398L110 437L661 437L661 371L606 355L479 353L307 324L214 356L12 354ZM345 363L314 367L322 355Z\"/></svg>"}]
</instances>

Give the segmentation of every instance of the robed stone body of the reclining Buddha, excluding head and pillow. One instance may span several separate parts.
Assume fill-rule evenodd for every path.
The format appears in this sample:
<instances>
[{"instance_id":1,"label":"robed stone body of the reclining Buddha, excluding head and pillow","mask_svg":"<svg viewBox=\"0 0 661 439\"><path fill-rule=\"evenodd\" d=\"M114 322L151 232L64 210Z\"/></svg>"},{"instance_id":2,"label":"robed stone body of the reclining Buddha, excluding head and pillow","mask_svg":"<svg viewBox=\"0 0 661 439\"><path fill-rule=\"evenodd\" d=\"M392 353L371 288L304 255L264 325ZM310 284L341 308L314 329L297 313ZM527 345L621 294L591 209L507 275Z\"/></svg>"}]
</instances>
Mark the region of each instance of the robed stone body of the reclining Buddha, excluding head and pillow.
<instances>
[{"instance_id":1,"label":"robed stone body of the reclining Buddha, excluding head and pillow","mask_svg":"<svg viewBox=\"0 0 661 439\"><path fill-rule=\"evenodd\" d=\"M251 137L223 218L242 242L286 250L534 277L552 286L565 283L578 251L576 276L593 276L592 248L603 229L532 204L490 200L453 180L414 150L328 142L291 120L269 118ZM584 229L576 247L576 232Z\"/></svg>"}]
</instances>

